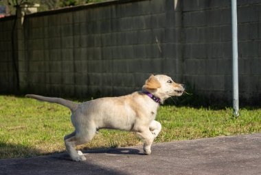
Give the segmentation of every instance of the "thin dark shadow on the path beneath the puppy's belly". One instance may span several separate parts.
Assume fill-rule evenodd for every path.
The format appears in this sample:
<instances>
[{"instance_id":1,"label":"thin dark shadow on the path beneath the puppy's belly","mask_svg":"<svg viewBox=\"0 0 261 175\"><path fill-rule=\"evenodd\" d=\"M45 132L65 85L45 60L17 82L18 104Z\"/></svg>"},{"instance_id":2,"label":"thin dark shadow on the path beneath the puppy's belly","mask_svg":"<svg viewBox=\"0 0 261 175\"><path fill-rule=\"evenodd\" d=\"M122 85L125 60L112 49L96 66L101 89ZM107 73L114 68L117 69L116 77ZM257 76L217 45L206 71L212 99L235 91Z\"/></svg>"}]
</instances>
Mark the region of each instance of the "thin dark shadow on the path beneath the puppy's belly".
<instances>
[{"instance_id":1,"label":"thin dark shadow on the path beneath the puppy's belly","mask_svg":"<svg viewBox=\"0 0 261 175\"><path fill-rule=\"evenodd\" d=\"M95 149L95 150L83 150L84 154L126 154L126 155L143 155L140 150L133 148L106 148L106 149Z\"/></svg>"}]
</instances>

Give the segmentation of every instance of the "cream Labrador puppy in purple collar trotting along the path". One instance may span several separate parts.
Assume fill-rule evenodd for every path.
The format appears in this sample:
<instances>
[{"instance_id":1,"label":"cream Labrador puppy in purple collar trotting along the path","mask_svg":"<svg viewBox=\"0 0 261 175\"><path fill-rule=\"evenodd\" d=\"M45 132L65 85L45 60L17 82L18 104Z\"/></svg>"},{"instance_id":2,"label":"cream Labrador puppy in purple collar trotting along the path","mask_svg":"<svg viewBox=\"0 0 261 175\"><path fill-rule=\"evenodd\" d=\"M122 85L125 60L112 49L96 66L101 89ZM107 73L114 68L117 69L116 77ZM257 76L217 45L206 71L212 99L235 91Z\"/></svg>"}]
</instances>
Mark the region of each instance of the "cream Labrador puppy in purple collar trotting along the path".
<instances>
[{"instance_id":1,"label":"cream Labrador puppy in purple collar trotting along the path","mask_svg":"<svg viewBox=\"0 0 261 175\"><path fill-rule=\"evenodd\" d=\"M155 120L160 103L170 96L181 96L184 87L166 75L151 75L142 91L126 96L106 97L76 104L63 98L50 98L27 94L37 100L58 103L71 109L73 133L66 135L65 146L73 161L85 161L86 157L75 147L91 141L99 129L133 131L144 142L144 154L150 154L150 146L161 131Z\"/></svg>"}]
</instances>

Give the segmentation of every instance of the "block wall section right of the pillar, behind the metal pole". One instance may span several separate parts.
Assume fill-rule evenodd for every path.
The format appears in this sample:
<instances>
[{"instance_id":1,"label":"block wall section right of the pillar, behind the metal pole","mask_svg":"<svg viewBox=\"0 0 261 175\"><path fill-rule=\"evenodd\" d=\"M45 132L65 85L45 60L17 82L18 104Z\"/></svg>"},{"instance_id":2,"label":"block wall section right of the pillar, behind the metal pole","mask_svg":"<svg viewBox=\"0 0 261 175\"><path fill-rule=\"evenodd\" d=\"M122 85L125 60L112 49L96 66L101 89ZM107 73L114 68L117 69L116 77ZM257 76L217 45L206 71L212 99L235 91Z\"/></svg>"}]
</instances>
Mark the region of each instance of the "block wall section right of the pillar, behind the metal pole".
<instances>
[{"instance_id":1,"label":"block wall section right of the pillar, behind the metal pole","mask_svg":"<svg viewBox=\"0 0 261 175\"><path fill-rule=\"evenodd\" d=\"M245 104L261 99L260 5L238 1L239 90ZM231 99L230 1L183 1L183 32L185 81L205 96Z\"/></svg>"}]
</instances>

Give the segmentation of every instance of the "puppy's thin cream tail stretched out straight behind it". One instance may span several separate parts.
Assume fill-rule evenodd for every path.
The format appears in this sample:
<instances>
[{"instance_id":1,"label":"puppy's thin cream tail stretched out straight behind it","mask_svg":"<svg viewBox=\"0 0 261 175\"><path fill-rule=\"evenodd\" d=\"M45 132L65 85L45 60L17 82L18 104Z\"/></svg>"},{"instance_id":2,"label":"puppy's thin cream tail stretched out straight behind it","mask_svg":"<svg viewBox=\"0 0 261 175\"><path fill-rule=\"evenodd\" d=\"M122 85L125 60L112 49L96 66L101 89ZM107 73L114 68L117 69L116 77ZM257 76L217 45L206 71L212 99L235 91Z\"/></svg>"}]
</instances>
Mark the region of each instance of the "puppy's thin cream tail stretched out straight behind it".
<instances>
[{"instance_id":1,"label":"puppy's thin cream tail stretched out straight behind it","mask_svg":"<svg viewBox=\"0 0 261 175\"><path fill-rule=\"evenodd\" d=\"M34 94L27 94L25 96L29 97L29 98L34 98L36 100L47 101L49 103L58 103L60 105L68 107L69 109L71 109L71 111L75 111L77 109L77 107L78 107L78 104L73 103L72 101L69 101L69 100L65 100L63 98L53 98L53 97L46 97L46 96L38 96L38 95L34 95Z\"/></svg>"}]
</instances>

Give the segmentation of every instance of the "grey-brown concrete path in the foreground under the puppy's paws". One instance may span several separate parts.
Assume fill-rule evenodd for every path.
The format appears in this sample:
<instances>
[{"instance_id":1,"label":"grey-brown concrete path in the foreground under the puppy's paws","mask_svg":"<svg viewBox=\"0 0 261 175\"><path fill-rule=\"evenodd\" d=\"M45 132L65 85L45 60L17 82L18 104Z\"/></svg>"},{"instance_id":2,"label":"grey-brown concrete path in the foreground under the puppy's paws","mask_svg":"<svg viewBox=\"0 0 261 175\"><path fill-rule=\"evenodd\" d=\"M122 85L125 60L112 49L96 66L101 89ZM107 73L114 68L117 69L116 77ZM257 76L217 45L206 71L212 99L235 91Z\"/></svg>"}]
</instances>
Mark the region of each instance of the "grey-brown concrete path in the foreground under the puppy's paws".
<instances>
[{"instance_id":1,"label":"grey-brown concrete path in the foreground under the puppy's paws","mask_svg":"<svg viewBox=\"0 0 261 175\"><path fill-rule=\"evenodd\" d=\"M86 151L87 161L67 154L0 160L0 174L261 174L261 133Z\"/></svg>"}]
</instances>

